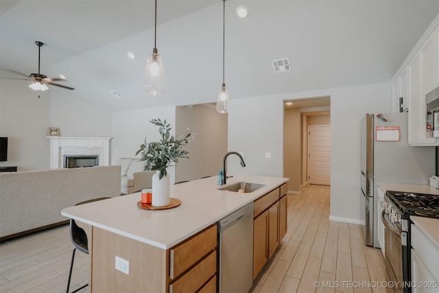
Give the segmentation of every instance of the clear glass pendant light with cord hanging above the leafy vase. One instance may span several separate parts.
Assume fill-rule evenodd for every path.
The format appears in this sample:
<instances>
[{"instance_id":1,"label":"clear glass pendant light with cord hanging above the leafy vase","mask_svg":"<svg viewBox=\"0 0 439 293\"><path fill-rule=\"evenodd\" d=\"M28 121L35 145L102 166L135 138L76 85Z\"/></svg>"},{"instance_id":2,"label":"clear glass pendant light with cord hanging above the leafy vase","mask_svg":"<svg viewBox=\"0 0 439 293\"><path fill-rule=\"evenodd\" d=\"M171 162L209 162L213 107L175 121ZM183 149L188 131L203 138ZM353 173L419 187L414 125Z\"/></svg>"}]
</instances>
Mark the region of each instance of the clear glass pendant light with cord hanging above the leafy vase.
<instances>
[{"instance_id":1,"label":"clear glass pendant light with cord hanging above the leafy vase","mask_svg":"<svg viewBox=\"0 0 439 293\"><path fill-rule=\"evenodd\" d=\"M155 1L155 15L154 15L154 49L152 54L148 56L146 61L145 81L143 82L143 89L150 93L150 95L160 95L166 90L165 84L165 70L163 69L162 57L158 55L156 48L156 33L157 33L157 0Z\"/></svg>"}]
</instances>

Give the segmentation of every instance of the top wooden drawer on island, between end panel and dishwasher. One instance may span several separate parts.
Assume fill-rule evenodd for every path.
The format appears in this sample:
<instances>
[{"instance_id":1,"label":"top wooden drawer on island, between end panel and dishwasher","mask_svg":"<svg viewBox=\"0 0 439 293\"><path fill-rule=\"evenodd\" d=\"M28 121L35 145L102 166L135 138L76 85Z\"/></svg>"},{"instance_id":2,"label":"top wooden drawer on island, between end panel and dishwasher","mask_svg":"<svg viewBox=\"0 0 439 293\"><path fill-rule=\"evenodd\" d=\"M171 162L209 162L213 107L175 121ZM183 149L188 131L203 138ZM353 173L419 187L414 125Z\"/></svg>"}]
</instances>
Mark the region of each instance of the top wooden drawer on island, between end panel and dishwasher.
<instances>
[{"instance_id":1,"label":"top wooden drawer on island, between end panel and dishwasher","mask_svg":"<svg viewBox=\"0 0 439 293\"><path fill-rule=\"evenodd\" d=\"M169 277L176 279L217 246L217 225L178 244L169 251Z\"/></svg>"}]
</instances>

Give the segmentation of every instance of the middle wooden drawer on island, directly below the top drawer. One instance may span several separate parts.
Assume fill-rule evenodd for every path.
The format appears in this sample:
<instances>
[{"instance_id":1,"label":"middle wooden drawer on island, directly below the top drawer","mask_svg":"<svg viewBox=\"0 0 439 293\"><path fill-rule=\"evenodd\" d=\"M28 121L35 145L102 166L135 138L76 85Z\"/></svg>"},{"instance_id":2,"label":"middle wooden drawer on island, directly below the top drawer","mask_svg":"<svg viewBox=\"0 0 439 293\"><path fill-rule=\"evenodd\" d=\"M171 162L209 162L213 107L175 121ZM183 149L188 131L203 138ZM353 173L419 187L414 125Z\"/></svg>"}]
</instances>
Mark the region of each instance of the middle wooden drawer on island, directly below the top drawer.
<instances>
[{"instance_id":1,"label":"middle wooden drawer on island, directly below the top drawer","mask_svg":"<svg viewBox=\"0 0 439 293\"><path fill-rule=\"evenodd\" d=\"M217 271L217 252L213 251L192 270L169 285L169 293L195 292L204 285Z\"/></svg>"}]
</instances>

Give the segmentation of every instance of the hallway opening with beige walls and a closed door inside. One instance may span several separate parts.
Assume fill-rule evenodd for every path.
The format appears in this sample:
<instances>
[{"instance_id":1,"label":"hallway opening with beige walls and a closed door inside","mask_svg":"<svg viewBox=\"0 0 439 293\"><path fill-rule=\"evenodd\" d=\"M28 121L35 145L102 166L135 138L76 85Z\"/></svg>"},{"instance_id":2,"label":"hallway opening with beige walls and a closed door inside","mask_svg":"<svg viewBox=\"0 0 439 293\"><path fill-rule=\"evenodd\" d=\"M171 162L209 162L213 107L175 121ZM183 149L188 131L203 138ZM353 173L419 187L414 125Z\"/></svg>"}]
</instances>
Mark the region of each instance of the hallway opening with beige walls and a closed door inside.
<instances>
[{"instance_id":1,"label":"hallway opening with beige walls and a closed door inside","mask_svg":"<svg viewBox=\"0 0 439 293\"><path fill-rule=\"evenodd\" d=\"M300 194L308 184L330 185L330 157L330 97L285 100L283 174L289 193Z\"/></svg>"}]
</instances>

